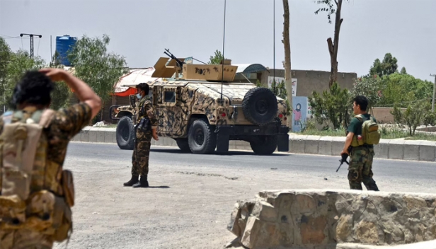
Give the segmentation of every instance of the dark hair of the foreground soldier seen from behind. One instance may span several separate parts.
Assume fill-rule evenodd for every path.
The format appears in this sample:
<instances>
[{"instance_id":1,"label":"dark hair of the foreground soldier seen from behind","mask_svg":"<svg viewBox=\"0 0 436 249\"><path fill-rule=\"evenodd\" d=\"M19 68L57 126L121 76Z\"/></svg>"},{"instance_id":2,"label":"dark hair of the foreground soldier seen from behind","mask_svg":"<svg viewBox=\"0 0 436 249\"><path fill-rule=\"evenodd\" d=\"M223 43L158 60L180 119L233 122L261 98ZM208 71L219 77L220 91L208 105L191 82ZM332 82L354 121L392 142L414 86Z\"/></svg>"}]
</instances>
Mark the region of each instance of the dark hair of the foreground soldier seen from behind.
<instances>
[{"instance_id":1,"label":"dark hair of the foreground soldier seen from behind","mask_svg":"<svg viewBox=\"0 0 436 249\"><path fill-rule=\"evenodd\" d=\"M13 89L11 104L50 105L53 81L40 71L27 71Z\"/></svg>"}]
</instances>

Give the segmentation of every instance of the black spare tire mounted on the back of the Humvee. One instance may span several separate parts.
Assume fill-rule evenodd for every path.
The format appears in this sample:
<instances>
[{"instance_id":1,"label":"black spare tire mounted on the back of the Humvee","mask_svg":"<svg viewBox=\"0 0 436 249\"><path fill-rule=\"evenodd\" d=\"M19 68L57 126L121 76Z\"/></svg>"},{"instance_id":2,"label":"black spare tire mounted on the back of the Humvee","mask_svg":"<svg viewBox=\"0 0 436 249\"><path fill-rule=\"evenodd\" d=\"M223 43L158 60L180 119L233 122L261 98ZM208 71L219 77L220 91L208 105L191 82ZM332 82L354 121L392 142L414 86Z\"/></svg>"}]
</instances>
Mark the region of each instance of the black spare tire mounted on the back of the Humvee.
<instances>
[{"instance_id":1,"label":"black spare tire mounted on the back of the Humvee","mask_svg":"<svg viewBox=\"0 0 436 249\"><path fill-rule=\"evenodd\" d=\"M243 97L242 110L254 125L266 125L277 116L277 98L268 88L251 88Z\"/></svg>"}]
</instances>

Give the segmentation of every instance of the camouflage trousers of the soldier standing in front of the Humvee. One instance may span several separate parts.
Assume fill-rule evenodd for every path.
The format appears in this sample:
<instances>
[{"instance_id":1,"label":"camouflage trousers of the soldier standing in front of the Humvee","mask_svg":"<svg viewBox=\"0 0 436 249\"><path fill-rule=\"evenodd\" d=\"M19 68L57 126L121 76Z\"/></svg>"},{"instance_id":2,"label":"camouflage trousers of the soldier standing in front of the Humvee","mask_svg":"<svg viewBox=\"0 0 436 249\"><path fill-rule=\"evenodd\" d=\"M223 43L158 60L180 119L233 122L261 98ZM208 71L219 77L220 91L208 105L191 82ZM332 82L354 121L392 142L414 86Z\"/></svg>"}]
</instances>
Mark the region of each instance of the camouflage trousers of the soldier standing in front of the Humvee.
<instances>
[{"instance_id":1,"label":"camouflage trousers of the soldier standing in front of the Humvee","mask_svg":"<svg viewBox=\"0 0 436 249\"><path fill-rule=\"evenodd\" d=\"M132 175L149 174L149 155L151 146L151 131L137 130L137 141L132 155Z\"/></svg>"}]
</instances>

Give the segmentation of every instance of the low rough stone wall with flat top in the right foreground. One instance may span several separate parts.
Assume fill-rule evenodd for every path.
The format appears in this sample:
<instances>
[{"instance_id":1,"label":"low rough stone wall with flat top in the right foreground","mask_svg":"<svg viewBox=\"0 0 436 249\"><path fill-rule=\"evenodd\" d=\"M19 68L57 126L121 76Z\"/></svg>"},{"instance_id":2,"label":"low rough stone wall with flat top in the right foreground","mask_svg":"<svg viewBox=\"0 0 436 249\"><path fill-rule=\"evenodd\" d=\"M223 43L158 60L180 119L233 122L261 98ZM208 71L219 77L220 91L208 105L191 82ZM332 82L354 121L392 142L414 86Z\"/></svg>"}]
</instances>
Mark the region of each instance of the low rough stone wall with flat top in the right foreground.
<instances>
[{"instance_id":1,"label":"low rough stone wall with flat top in the right foreground","mask_svg":"<svg viewBox=\"0 0 436 249\"><path fill-rule=\"evenodd\" d=\"M264 191L239 201L228 229L246 248L400 245L436 237L436 195L357 190Z\"/></svg>"}]
</instances>

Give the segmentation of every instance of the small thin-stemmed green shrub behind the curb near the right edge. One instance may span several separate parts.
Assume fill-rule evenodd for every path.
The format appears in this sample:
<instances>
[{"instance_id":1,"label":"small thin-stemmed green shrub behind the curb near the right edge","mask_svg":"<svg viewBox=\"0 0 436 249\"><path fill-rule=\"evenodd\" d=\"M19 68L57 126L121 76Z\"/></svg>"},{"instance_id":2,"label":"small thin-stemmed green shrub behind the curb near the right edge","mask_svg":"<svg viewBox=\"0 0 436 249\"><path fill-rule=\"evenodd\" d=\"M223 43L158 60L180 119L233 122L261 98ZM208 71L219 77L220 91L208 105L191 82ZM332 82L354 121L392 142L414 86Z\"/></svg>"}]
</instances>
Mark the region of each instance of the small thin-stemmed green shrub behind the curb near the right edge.
<instances>
[{"instance_id":1,"label":"small thin-stemmed green shrub behind the curb near the right edge","mask_svg":"<svg viewBox=\"0 0 436 249\"><path fill-rule=\"evenodd\" d=\"M435 116L429 115L431 105L427 100L416 101L408 105L406 110L401 111L399 105L394 106L391 114L394 115L394 121L397 124L407 125L409 135L414 136L416 127L427 123L435 123Z\"/></svg>"}]
</instances>

